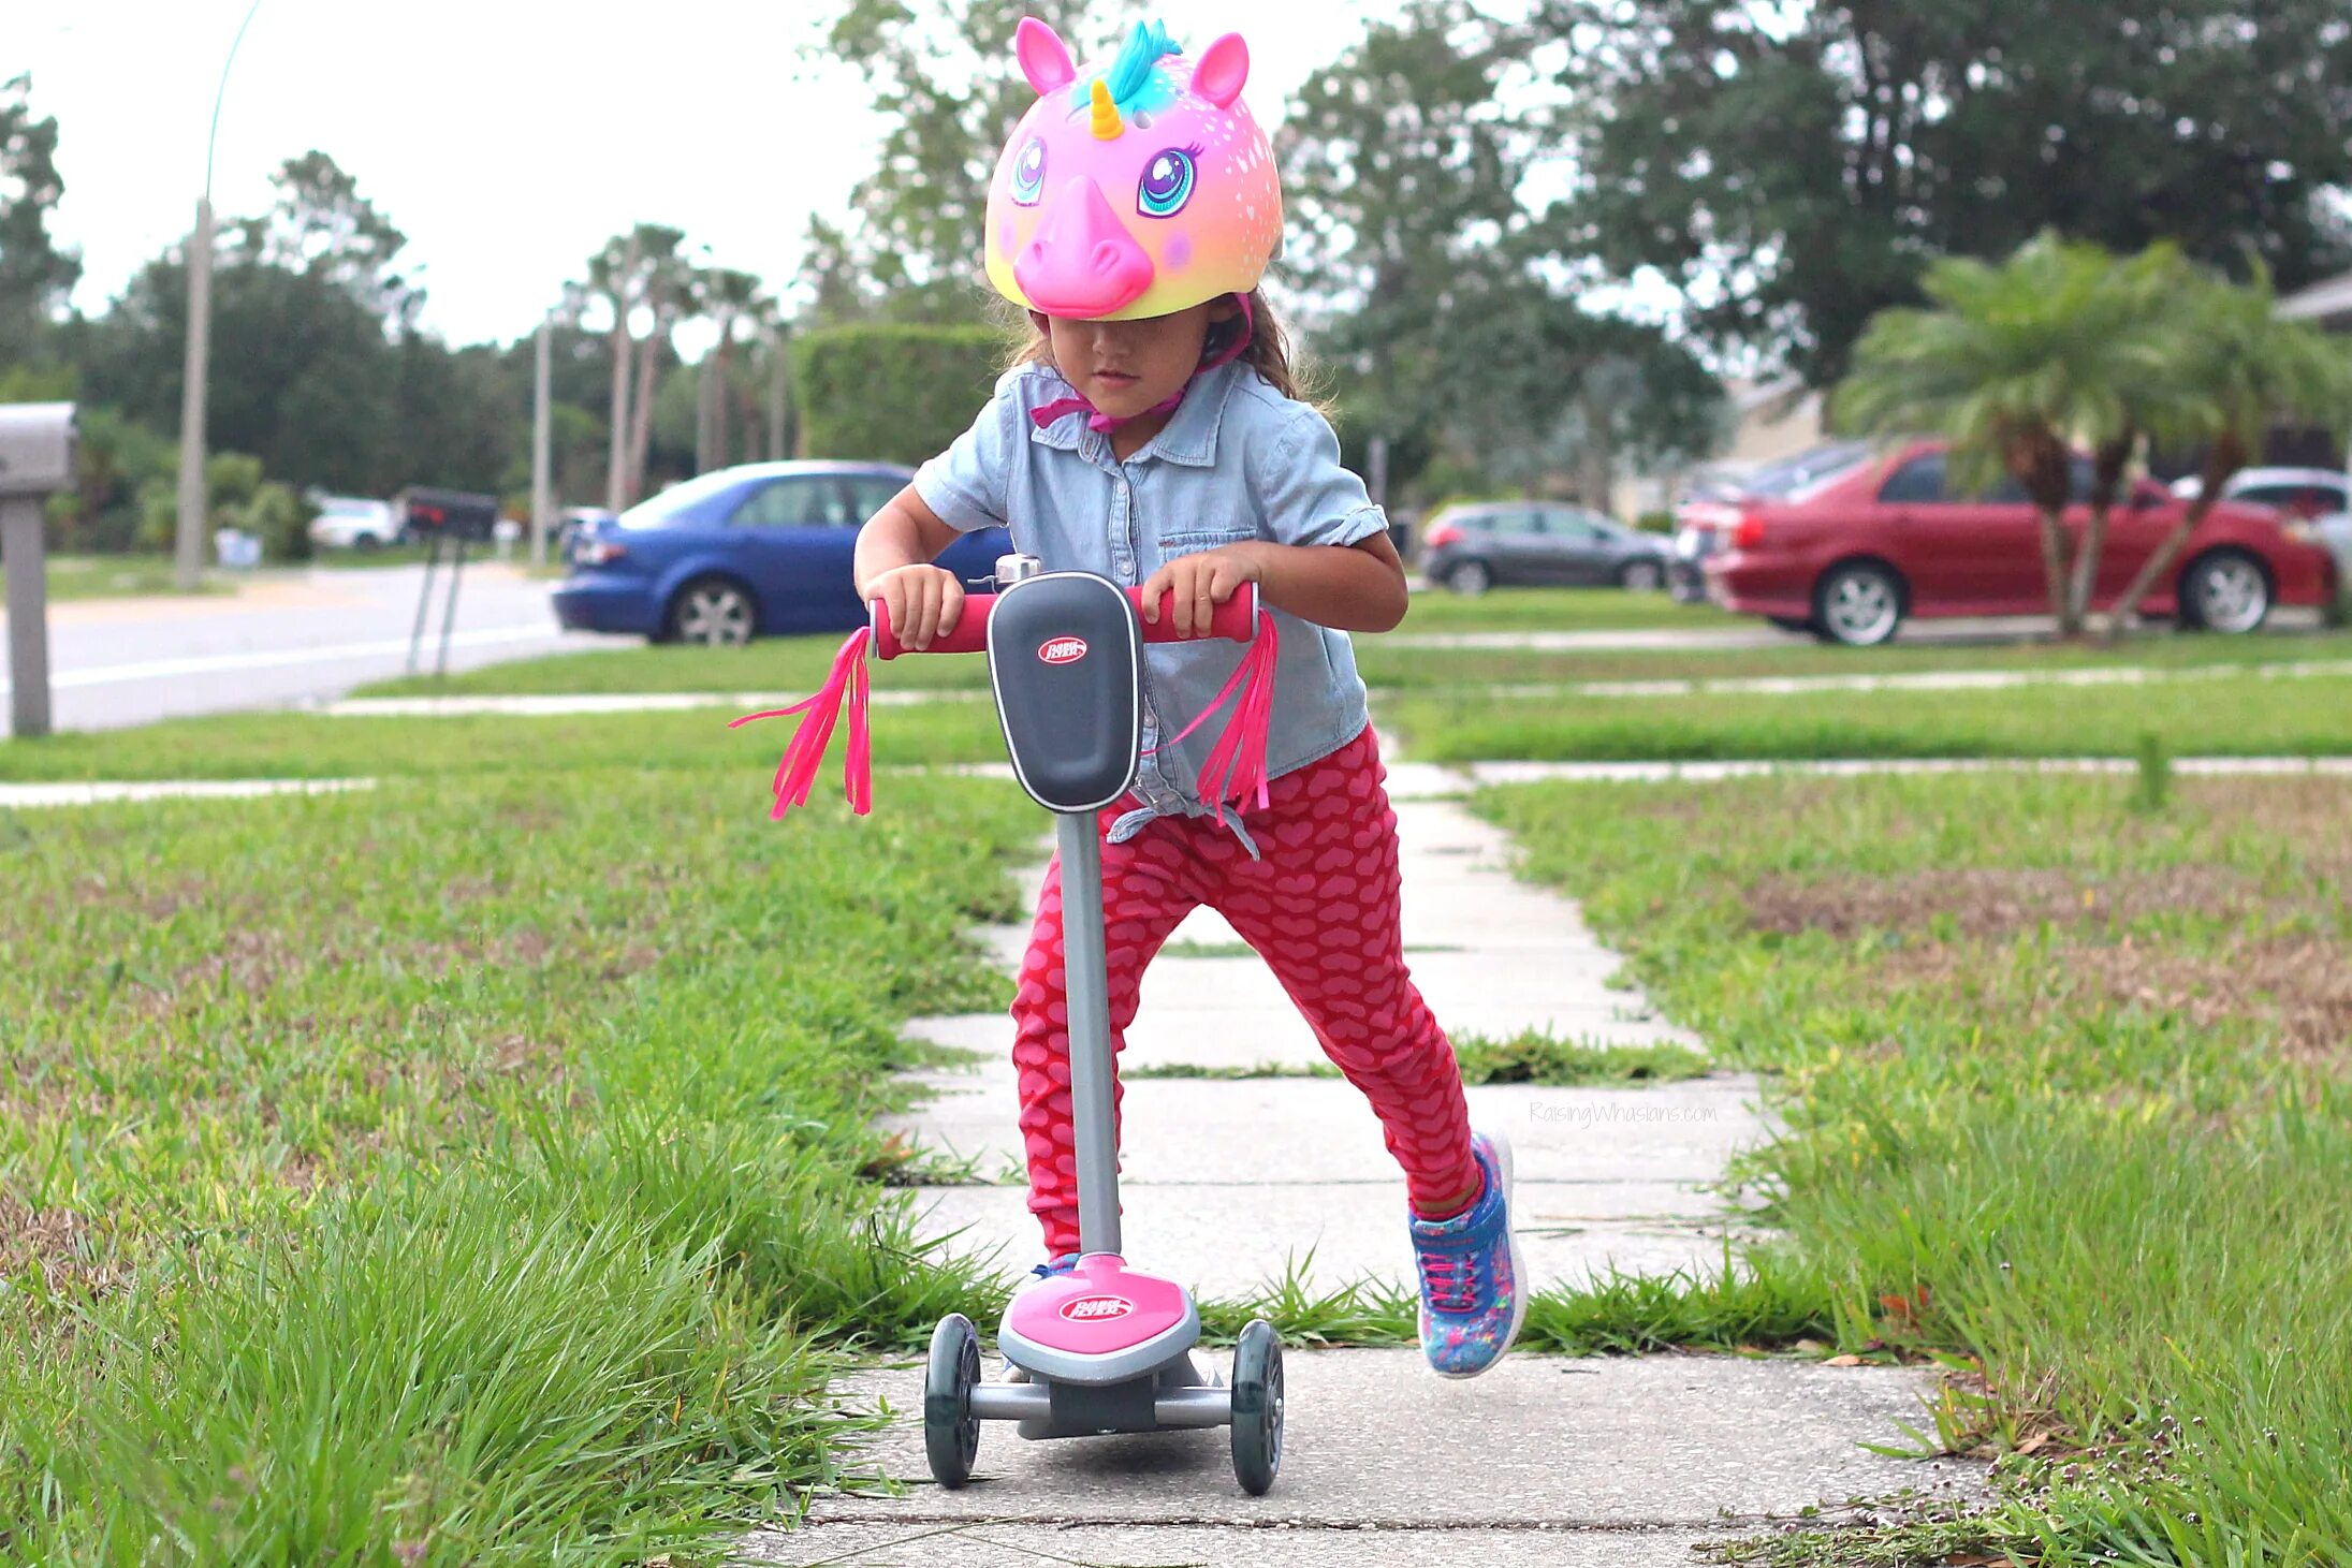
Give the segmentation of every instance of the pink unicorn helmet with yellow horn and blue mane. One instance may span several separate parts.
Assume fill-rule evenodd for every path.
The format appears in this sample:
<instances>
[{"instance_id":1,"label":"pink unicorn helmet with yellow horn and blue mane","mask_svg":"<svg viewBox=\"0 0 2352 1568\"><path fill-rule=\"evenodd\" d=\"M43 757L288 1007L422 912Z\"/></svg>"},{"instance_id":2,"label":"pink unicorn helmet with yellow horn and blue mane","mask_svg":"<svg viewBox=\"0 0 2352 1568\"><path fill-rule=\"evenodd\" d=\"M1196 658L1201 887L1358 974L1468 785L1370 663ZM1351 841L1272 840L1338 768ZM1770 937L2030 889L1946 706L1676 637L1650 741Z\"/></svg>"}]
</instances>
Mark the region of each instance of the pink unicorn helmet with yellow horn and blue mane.
<instances>
[{"instance_id":1,"label":"pink unicorn helmet with yellow horn and blue mane","mask_svg":"<svg viewBox=\"0 0 2352 1568\"><path fill-rule=\"evenodd\" d=\"M1282 242L1282 183L1242 103L1249 47L1197 61L1164 24L1080 71L1047 24L1014 31L1037 103L988 186L988 282L1023 310L1124 322L1247 296Z\"/></svg>"}]
</instances>

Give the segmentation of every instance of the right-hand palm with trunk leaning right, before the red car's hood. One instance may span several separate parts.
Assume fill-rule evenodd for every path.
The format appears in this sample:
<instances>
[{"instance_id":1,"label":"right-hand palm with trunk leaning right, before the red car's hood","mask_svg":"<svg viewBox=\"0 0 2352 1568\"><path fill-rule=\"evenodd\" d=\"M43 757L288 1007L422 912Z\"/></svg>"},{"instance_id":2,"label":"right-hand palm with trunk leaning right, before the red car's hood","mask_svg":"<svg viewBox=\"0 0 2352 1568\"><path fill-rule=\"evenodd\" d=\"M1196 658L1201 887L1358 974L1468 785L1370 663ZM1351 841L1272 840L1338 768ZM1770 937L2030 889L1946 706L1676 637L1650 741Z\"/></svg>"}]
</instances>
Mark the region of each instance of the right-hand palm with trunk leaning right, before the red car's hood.
<instances>
[{"instance_id":1,"label":"right-hand palm with trunk leaning right, before the red car's hood","mask_svg":"<svg viewBox=\"0 0 2352 1568\"><path fill-rule=\"evenodd\" d=\"M2183 334L2176 374L2192 400L2157 435L2183 447L2201 444L2204 475L2187 512L2107 611L2107 637L2173 569L2223 484L2263 449L2272 425L2296 421L2343 430L2352 423L2352 350L2312 322L2284 320L2260 261L2244 287L2197 277L2176 299L2176 315Z\"/></svg>"}]
</instances>

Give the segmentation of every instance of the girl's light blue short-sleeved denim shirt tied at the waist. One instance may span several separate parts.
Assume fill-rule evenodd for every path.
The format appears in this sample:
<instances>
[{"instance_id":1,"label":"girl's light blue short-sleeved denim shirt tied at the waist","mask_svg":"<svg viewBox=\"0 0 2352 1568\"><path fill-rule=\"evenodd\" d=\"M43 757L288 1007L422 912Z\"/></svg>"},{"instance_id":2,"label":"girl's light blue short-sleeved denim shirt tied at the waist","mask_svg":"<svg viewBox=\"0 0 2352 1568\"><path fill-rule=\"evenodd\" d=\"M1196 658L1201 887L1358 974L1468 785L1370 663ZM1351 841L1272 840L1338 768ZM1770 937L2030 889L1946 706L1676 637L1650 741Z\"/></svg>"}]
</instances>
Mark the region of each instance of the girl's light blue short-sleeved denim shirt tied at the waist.
<instances>
[{"instance_id":1,"label":"girl's light blue short-sleeved denim shirt tied at the waist","mask_svg":"<svg viewBox=\"0 0 2352 1568\"><path fill-rule=\"evenodd\" d=\"M1051 367L1007 371L971 428L915 475L915 494L957 531L1002 524L1014 548L1049 571L1094 571L1127 588L1178 555L1244 538L1352 545L1388 529L1364 482L1338 465L1329 421L1247 364L1197 376L1167 428L1124 463L1084 414L1044 430L1030 421L1030 409L1068 395ZM1369 722L1348 635L1279 609L1272 616L1282 651L1268 778L1329 757ZM1223 719L1162 745L1216 698L1242 651L1223 639L1143 649L1145 755L1134 783L1143 804L1112 823L1112 844L1160 816L1216 816L1256 856L1235 813L1197 792Z\"/></svg>"}]
</instances>

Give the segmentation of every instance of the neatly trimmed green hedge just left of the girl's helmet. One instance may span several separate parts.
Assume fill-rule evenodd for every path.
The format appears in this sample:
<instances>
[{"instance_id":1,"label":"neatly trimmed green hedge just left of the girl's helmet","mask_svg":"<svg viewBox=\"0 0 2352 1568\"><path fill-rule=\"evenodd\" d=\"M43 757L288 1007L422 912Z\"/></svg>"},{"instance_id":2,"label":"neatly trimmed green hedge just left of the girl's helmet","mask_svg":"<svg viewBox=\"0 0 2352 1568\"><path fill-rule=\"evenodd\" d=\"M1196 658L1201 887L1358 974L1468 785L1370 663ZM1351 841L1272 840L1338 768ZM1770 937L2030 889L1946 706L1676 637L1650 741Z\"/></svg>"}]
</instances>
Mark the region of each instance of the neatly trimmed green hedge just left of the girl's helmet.
<instances>
[{"instance_id":1,"label":"neatly trimmed green hedge just left of the girl's helmet","mask_svg":"<svg viewBox=\"0 0 2352 1568\"><path fill-rule=\"evenodd\" d=\"M922 463L971 425L1004 369L995 327L873 322L793 339L800 451Z\"/></svg>"}]
</instances>

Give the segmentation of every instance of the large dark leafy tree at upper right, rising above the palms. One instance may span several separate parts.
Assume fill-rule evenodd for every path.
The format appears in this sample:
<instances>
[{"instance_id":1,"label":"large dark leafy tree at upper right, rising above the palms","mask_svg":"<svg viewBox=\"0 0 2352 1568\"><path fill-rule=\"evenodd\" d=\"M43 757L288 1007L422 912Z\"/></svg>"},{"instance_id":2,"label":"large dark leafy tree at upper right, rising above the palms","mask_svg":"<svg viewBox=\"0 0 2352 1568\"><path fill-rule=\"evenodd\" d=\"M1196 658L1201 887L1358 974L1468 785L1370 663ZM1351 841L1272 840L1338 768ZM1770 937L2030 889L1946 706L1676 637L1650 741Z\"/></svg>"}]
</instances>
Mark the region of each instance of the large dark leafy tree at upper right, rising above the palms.
<instances>
[{"instance_id":1,"label":"large dark leafy tree at upper right, rising above the palms","mask_svg":"<svg viewBox=\"0 0 2352 1568\"><path fill-rule=\"evenodd\" d=\"M1712 343L1837 381L1929 256L2044 228L2176 240L2293 287L2345 266L2343 0L2161 7L1543 0L1564 45L1557 254L1658 268ZM1764 134L1769 127L1769 134Z\"/></svg>"}]
</instances>

